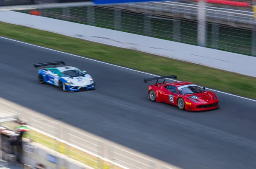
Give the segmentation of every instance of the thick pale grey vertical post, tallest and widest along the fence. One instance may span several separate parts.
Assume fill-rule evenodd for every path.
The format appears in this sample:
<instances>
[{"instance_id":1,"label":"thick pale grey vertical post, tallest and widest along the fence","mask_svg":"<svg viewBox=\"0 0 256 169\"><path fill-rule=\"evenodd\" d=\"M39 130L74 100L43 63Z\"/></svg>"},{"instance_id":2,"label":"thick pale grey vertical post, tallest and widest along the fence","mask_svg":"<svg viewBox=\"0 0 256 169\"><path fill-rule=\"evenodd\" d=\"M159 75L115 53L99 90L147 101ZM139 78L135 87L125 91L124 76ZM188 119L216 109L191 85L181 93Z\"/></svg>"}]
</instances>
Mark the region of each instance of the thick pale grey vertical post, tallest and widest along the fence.
<instances>
[{"instance_id":1,"label":"thick pale grey vertical post, tallest and widest along the fence","mask_svg":"<svg viewBox=\"0 0 256 169\"><path fill-rule=\"evenodd\" d=\"M205 0L198 1L198 25L197 25L197 35L198 35L198 45L205 47L206 45L206 2Z\"/></svg>"}]
</instances>

